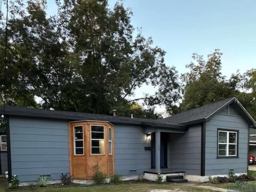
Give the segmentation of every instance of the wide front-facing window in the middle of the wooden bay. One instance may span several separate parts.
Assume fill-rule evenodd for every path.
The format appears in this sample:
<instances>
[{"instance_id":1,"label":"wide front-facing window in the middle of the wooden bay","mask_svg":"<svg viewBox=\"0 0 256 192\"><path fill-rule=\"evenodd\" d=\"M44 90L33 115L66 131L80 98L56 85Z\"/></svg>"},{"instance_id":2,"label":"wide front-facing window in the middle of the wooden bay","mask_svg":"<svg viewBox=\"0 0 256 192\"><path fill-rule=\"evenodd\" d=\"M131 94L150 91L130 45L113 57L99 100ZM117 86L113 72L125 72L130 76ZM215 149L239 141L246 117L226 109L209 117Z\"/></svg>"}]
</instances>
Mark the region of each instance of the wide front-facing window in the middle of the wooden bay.
<instances>
[{"instance_id":1,"label":"wide front-facing window in the middle of the wooden bay","mask_svg":"<svg viewBox=\"0 0 256 192\"><path fill-rule=\"evenodd\" d=\"M91 125L91 154L105 154L103 125Z\"/></svg>"}]
</instances>

